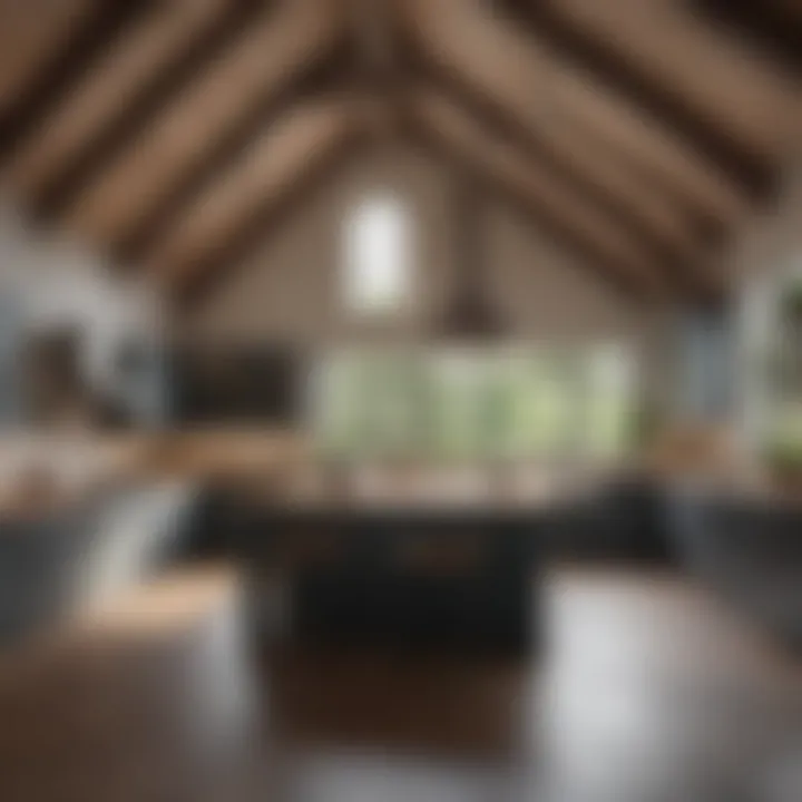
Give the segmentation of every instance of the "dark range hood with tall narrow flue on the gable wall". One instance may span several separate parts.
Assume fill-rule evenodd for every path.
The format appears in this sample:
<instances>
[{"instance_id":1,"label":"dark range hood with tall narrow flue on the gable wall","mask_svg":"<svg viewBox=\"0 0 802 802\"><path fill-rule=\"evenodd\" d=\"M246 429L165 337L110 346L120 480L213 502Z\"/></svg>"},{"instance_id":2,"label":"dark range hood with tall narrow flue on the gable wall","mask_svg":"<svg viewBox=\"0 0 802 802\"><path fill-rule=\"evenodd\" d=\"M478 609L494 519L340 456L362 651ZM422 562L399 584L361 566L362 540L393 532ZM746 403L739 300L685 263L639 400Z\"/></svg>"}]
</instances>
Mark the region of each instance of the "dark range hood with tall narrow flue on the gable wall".
<instances>
[{"instance_id":1,"label":"dark range hood with tall narrow flue on the gable wall","mask_svg":"<svg viewBox=\"0 0 802 802\"><path fill-rule=\"evenodd\" d=\"M505 333L490 299L485 194L470 176L459 176L452 197L451 286L437 324L437 334L471 342Z\"/></svg>"}]
</instances>

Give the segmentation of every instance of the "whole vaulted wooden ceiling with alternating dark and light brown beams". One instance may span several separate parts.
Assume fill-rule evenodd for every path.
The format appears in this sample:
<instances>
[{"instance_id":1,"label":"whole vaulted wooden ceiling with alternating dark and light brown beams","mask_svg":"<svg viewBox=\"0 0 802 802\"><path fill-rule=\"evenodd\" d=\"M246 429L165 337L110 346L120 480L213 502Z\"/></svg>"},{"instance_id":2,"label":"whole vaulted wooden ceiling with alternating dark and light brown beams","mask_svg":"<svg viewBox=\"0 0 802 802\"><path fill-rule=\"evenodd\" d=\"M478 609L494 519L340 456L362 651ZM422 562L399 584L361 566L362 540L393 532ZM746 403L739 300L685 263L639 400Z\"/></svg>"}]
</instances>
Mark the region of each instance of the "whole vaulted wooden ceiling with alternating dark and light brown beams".
<instances>
[{"instance_id":1,"label":"whole vaulted wooden ceiling with alternating dark and light brown beams","mask_svg":"<svg viewBox=\"0 0 802 802\"><path fill-rule=\"evenodd\" d=\"M403 138L635 301L710 302L801 71L796 0L0 0L0 182L192 299Z\"/></svg>"}]
</instances>

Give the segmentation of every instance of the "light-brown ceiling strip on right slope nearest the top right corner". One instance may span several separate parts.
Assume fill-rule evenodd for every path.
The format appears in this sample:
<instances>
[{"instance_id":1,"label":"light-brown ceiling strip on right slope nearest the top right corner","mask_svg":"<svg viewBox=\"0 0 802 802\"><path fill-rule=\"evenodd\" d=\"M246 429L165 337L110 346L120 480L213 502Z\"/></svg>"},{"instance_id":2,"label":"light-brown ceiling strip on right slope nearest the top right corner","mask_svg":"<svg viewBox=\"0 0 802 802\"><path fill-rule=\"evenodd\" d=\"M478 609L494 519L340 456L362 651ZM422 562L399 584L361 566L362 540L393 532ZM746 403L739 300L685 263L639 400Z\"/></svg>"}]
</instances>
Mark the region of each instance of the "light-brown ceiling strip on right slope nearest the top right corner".
<instances>
[{"instance_id":1,"label":"light-brown ceiling strip on right slope nearest the top right corner","mask_svg":"<svg viewBox=\"0 0 802 802\"><path fill-rule=\"evenodd\" d=\"M732 148L747 154L759 169L766 165L771 172L795 146L798 82L746 37L728 36L702 12L701 0L540 2L649 86L671 89L706 126L728 135Z\"/></svg>"}]
</instances>

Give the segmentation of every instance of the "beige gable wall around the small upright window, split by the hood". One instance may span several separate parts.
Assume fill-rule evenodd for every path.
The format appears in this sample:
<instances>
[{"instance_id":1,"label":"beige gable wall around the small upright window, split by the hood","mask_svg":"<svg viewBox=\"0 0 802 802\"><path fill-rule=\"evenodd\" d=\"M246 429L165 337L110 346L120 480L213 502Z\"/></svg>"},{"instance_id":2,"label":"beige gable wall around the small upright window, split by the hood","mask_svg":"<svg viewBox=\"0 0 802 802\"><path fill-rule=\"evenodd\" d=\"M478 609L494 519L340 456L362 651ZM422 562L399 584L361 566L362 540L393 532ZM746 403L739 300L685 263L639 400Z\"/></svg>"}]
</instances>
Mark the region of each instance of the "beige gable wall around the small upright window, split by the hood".
<instances>
[{"instance_id":1,"label":"beige gable wall around the small upright window, split by the hood","mask_svg":"<svg viewBox=\"0 0 802 802\"><path fill-rule=\"evenodd\" d=\"M290 339L314 344L354 332L340 303L343 216L366 194L400 193L414 215L415 302L409 316L378 334L430 331L457 270L449 217L450 176L417 151L364 155L322 187L278 235L223 281L187 321L195 340ZM512 332L536 338L610 338L642 342L651 316L600 283L507 207L490 204L489 292Z\"/></svg>"}]
</instances>

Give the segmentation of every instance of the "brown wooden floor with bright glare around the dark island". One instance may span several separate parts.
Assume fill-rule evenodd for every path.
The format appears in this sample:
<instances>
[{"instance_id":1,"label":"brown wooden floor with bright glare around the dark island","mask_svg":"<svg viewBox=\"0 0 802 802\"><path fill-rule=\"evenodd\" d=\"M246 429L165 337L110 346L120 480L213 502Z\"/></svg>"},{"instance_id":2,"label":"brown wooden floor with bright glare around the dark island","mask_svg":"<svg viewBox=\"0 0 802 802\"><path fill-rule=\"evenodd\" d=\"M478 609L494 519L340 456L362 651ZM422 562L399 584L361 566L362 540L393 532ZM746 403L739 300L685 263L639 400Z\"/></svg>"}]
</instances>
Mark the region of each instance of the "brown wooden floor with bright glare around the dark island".
<instances>
[{"instance_id":1,"label":"brown wooden floor with bright glare around the dark island","mask_svg":"<svg viewBox=\"0 0 802 802\"><path fill-rule=\"evenodd\" d=\"M232 575L0 668L0 800L802 800L802 672L674 577L555 571L539 662L253 657Z\"/></svg>"}]
</instances>

